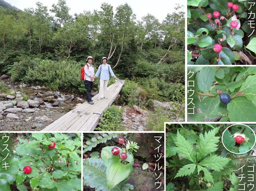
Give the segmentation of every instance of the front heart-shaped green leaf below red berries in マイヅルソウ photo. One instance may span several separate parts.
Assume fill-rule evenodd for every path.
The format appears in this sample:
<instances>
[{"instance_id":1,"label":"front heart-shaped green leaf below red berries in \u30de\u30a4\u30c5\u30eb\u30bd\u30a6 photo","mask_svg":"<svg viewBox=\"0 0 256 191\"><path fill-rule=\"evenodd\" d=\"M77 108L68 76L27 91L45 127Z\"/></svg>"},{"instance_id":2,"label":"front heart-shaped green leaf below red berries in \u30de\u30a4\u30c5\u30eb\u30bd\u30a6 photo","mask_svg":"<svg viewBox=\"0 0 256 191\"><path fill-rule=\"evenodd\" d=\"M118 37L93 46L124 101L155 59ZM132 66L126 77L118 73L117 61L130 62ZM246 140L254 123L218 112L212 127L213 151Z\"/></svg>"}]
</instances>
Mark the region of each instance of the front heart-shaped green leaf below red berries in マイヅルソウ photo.
<instances>
[{"instance_id":1,"label":"front heart-shaped green leaf below red berries in \u30de\u30a4\u30c5\u30eb\u30bd\u30a6 photo","mask_svg":"<svg viewBox=\"0 0 256 191\"><path fill-rule=\"evenodd\" d=\"M107 167L106 167L106 177L108 189L113 188L122 180L125 180L129 174L133 171L133 163L129 164L121 164L120 159L114 157L110 157Z\"/></svg>"}]
</instances>

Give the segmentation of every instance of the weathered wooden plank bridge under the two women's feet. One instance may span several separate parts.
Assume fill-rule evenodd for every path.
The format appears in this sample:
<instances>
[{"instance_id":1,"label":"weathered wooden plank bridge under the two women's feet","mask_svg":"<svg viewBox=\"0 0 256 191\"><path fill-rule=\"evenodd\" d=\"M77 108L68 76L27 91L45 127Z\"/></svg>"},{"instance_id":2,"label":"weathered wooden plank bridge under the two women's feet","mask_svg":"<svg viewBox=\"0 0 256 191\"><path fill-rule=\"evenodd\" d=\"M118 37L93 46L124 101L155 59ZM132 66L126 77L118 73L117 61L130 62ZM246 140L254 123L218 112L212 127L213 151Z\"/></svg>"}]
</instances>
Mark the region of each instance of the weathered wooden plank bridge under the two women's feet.
<instances>
[{"instance_id":1,"label":"weathered wooden plank bridge under the two women's feet","mask_svg":"<svg viewBox=\"0 0 256 191\"><path fill-rule=\"evenodd\" d=\"M125 80L122 82L124 83ZM97 94L92 98L93 105L85 101L42 131L93 131L99 122L99 117L103 115L103 111L113 103L121 89L122 87L117 82L111 84L106 93L108 99L97 100L99 98L99 94Z\"/></svg>"}]
</instances>

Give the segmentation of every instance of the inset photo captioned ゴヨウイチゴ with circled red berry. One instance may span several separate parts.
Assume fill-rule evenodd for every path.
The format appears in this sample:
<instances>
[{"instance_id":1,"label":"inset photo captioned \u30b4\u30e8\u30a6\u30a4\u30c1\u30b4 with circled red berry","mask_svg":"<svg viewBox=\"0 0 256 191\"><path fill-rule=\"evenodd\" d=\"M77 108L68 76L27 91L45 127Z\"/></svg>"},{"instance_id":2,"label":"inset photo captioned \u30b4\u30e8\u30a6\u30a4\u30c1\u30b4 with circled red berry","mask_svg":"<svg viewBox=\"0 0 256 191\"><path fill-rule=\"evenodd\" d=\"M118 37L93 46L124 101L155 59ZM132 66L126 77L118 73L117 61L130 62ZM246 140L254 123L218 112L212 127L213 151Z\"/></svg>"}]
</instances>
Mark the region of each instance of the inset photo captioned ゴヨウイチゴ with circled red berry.
<instances>
[{"instance_id":1,"label":"inset photo captioned \u30b4\u30e8\u30a6\u30a4\u30c1\u30b4 with circled red berry","mask_svg":"<svg viewBox=\"0 0 256 191\"><path fill-rule=\"evenodd\" d=\"M165 124L166 190L254 190L256 124Z\"/></svg>"}]
</instances>

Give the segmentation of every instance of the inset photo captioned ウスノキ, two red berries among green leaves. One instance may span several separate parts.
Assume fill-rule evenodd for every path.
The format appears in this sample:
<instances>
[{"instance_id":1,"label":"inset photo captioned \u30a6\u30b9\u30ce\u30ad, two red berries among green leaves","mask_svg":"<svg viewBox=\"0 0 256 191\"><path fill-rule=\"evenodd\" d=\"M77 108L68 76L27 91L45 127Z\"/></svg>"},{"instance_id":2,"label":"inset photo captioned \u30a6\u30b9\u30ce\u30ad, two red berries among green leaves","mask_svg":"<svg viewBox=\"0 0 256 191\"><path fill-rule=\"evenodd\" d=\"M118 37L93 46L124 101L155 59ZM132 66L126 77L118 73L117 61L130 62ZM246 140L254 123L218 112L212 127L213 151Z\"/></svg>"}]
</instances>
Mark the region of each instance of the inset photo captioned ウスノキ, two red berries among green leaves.
<instances>
[{"instance_id":1,"label":"inset photo captioned \u30a6\u30b9\u30ce\u30ad, two red berries among green leaves","mask_svg":"<svg viewBox=\"0 0 256 191\"><path fill-rule=\"evenodd\" d=\"M0 190L81 190L80 133L0 133Z\"/></svg>"}]
</instances>

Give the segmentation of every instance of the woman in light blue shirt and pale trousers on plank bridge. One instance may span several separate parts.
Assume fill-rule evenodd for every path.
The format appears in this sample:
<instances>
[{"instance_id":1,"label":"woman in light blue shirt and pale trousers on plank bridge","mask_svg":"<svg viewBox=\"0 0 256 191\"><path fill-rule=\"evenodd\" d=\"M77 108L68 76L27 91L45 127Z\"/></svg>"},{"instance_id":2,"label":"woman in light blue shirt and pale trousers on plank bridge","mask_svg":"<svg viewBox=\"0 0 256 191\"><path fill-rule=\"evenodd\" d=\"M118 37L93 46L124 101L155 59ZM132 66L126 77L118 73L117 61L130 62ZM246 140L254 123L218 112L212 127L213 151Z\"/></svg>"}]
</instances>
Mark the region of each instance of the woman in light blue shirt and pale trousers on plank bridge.
<instances>
[{"instance_id":1,"label":"woman in light blue shirt and pale trousers on plank bridge","mask_svg":"<svg viewBox=\"0 0 256 191\"><path fill-rule=\"evenodd\" d=\"M108 64L108 58L103 57L101 59L101 65L95 74L95 77L98 77L99 74L101 73L100 92L99 92L100 98L98 98L98 100L101 100L103 98L108 99L108 98L106 98L106 89L107 89L108 83L109 83L109 72L110 72L111 76L114 76L114 78L117 80L116 76L114 75L114 73L111 69L111 66Z\"/></svg>"}]
</instances>

